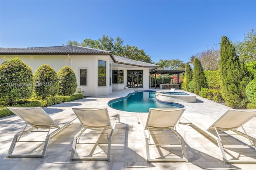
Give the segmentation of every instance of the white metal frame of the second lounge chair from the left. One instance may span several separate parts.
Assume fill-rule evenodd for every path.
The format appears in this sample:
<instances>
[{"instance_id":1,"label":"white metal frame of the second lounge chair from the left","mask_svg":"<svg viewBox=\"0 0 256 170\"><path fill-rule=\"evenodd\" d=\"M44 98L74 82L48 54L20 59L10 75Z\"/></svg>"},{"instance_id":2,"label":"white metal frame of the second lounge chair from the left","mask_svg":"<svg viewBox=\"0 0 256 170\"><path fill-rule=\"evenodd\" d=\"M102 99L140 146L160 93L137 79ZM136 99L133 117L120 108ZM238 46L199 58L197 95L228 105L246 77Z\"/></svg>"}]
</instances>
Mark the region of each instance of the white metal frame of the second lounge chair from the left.
<instances>
[{"instance_id":1,"label":"white metal frame of the second lounge chair from the left","mask_svg":"<svg viewBox=\"0 0 256 170\"><path fill-rule=\"evenodd\" d=\"M84 111L88 111L88 112L90 112L90 111L95 112L95 111L99 111L99 110L105 110L109 123L108 123L108 125L104 125L104 126L101 126L101 127L88 126L88 125L83 124L82 120L80 120L80 117L76 114L78 116L78 119L80 120L80 123L81 123L81 130L74 136L70 161L72 161L72 160L107 160L107 161L110 161L111 139L112 139L112 135L113 135L114 128L116 126L117 121L120 123L119 113L116 114L116 118L115 118L114 123L112 125L111 122L110 122L110 117L108 115L108 109L107 108L72 108L72 109L74 110L75 113L76 113L76 110L84 110ZM107 134L106 142L105 143L80 142L81 135L87 133L87 132L85 132L86 129L102 131L102 132L95 132L95 133L98 133L98 134ZM111 130L111 132L109 134L110 130ZM104 131L107 131L107 132L104 132ZM89 132L89 133L93 133L93 132ZM80 156L75 156L76 146L78 144L107 144L108 145L107 157L93 157L93 156L80 157Z\"/></svg>"}]
</instances>

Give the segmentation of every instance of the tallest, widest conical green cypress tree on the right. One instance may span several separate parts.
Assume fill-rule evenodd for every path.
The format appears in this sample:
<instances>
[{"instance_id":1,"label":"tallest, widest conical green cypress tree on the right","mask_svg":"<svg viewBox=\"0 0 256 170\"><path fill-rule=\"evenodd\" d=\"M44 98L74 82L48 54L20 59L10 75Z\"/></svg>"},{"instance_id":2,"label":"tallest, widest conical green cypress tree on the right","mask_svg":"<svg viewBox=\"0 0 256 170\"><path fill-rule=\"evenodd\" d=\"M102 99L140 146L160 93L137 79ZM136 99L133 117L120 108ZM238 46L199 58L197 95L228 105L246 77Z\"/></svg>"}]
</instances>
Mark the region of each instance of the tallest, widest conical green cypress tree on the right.
<instances>
[{"instance_id":1,"label":"tallest, widest conical green cypress tree on the right","mask_svg":"<svg viewBox=\"0 0 256 170\"><path fill-rule=\"evenodd\" d=\"M244 63L236 55L234 45L223 36L220 43L220 89L229 107L246 107L248 100L245 87L251 80L246 70Z\"/></svg>"}]
</instances>

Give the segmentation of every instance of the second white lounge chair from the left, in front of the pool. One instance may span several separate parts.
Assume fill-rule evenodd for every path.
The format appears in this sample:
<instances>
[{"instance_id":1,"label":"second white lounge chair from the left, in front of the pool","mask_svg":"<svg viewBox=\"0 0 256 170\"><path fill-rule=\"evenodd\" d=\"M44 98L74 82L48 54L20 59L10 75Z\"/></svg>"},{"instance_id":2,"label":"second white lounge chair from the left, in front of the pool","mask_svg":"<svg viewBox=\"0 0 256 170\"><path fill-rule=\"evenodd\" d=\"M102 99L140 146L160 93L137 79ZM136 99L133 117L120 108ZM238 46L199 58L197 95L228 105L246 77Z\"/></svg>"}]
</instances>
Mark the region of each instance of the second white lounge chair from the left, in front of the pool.
<instances>
[{"instance_id":1,"label":"second white lounge chair from the left, in front of the pool","mask_svg":"<svg viewBox=\"0 0 256 170\"><path fill-rule=\"evenodd\" d=\"M72 108L78 120L82 124L80 132L74 136L70 161L72 160L108 160L110 161L110 150L111 150L111 138L116 126L116 122L120 122L119 114L109 114L107 108ZM100 130L96 132L105 134L107 139L106 142L80 142L82 134L86 134L85 130ZM92 133L92 132L90 132ZM86 156L76 156L76 148L78 144L107 144L108 153L107 157L93 156L92 152ZM82 153L84 154L84 152Z\"/></svg>"}]
</instances>

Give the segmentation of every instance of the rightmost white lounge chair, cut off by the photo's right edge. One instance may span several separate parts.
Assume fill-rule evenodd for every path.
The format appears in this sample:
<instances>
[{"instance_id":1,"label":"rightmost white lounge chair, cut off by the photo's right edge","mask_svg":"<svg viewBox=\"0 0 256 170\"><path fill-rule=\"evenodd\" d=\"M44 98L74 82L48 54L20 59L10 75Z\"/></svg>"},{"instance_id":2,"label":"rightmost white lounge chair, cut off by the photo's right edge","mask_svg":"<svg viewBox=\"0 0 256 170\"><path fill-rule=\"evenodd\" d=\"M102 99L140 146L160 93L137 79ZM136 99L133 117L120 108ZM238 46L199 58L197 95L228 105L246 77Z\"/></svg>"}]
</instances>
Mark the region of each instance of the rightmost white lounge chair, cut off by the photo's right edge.
<instances>
[{"instance_id":1,"label":"rightmost white lounge chair, cut off by the photo's right edge","mask_svg":"<svg viewBox=\"0 0 256 170\"><path fill-rule=\"evenodd\" d=\"M243 126L246 122L250 121L253 117L256 116L256 109L228 109L225 113L223 113L216 121L213 119L210 119L202 114L199 113L193 113L193 114L184 114L182 117L189 121L192 125L198 127L200 130L202 130L204 133L210 135L212 138L214 138L218 146L220 148L220 152L222 154L222 159L225 164L228 163L255 163L256 160L239 160L234 159L227 160L226 154L224 151L224 148L228 147L239 147L243 148L244 146L253 146L254 149L256 149L255 146L255 139L251 138L247 135L246 131L244 130ZM236 130L237 128L241 127L244 133L239 132ZM228 133L222 133L224 131L232 130L233 132L236 132L236 134L228 134ZM214 135L214 132L216 134ZM224 142L222 141L221 136L234 136L234 135L241 135L246 138L248 138L250 145L224 145ZM236 138L237 139L237 138Z\"/></svg>"}]
</instances>

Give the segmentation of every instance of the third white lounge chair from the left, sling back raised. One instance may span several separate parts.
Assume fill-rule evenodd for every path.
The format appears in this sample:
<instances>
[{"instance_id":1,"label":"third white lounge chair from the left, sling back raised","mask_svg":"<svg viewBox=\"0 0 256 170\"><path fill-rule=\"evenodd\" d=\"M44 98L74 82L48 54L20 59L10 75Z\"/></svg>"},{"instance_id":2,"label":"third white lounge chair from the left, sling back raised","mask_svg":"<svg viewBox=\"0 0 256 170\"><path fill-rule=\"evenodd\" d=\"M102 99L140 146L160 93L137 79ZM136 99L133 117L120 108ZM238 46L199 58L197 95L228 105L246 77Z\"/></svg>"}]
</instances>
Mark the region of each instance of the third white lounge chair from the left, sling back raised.
<instances>
[{"instance_id":1,"label":"third white lounge chair from the left, sling back raised","mask_svg":"<svg viewBox=\"0 0 256 170\"><path fill-rule=\"evenodd\" d=\"M184 113L185 108L164 108L164 109L149 109L149 113L138 113L138 123L141 123L144 130L148 131L146 133L144 131L144 135L146 138L146 154L147 154L147 162L158 162L158 161L182 161L188 162L186 148L184 139L180 134L178 134L176 130L176 125L180 120L181 115ZM159 132L162 131L162 132ZM173 133L172 133L173 132ZM175 136L171 136L175 134ZM150 141L150 136L154 139L154 143ZM176 139L178 141L175 142L162 142L162 138L168 137ZM174 138L173 138L174 137ZM174 146L181 147L182 157L175 158L150 158L150 145L159 146ZM169 147L170 148L170 147ZM160 149L159 149L160 150ZM161 153L160 153L161 154Z\"/></svg>"}]
</instances>

